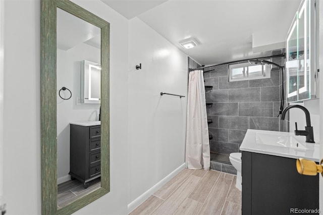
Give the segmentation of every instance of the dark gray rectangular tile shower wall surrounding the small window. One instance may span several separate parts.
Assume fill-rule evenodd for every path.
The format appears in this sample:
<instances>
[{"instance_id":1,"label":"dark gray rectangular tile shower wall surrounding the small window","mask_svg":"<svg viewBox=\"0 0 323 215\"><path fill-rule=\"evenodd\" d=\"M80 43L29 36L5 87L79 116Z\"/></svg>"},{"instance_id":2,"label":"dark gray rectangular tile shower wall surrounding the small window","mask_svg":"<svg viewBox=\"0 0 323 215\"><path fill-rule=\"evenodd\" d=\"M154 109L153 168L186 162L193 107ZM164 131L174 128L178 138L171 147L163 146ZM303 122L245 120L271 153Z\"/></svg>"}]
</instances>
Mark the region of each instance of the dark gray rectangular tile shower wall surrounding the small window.
<instances>
[{"instance_id":1,"label":"dark gray rectangular tile shower wall surrounding the small window","mask_svg":"<svg viewBox=\"0 0 323 215\"><path fill-rule=\"evenodd\" d=\"M272 53L279 55L282 51L285 50ZM283 58L271 60L278 65L285 64ZM209 134L213 136L210 140L211 152L238 152L247 129L289 131L289 122L277 117L281 103L281 79L281 71L275 66L270 79L236 82L228 82L228 65L204 69L204 84L213 86L212 90L205 92L206 102L212 103L207 108L207 118L212 119L212 123L208 124ZM285 83L284 80L284 89Z\"/></svg>"}]
</instances>

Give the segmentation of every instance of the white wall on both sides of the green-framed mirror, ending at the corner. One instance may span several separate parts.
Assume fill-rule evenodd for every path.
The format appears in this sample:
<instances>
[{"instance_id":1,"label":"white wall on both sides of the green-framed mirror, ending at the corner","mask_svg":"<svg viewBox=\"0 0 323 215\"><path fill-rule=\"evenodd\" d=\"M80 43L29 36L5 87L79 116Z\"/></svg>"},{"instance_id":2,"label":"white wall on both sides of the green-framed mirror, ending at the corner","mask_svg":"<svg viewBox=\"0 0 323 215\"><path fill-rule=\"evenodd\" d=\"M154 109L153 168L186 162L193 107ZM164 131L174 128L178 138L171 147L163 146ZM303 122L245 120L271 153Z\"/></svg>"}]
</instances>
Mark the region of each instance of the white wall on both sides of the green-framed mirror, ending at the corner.
<instances>
[{"instance_id":1,"label":"white wall on both sides of the green-framed mirror, ending at the corner","mask_svg":"<svg viewBox=\"0 0 323 215\"><path fill-rule=\"evenodd\" d=\"M128 20L78 1L111 23L111 192L76 214L127 213ZM40 214L40 2L5 1L4 197L7 214Z\"/></svg>"}]
</instances>

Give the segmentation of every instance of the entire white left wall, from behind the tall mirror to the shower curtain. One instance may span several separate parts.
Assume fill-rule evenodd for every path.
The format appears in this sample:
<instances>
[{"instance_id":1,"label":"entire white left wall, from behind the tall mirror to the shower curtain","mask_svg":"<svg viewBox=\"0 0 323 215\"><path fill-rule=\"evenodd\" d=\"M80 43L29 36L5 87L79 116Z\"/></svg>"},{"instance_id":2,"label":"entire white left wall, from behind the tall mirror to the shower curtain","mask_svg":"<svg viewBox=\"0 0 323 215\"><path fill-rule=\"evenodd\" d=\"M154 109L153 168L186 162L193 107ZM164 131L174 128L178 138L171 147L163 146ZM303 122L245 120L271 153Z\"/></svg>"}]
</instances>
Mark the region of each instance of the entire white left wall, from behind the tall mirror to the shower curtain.
<instances>
[{"instance_id":1,"label":"entire white left wall, from behind the tall mirror to the shower curtain","mask_svg":"<svg viewBox=\"0 0 323 215\"><path fill-rule=\"evenodd\" d=\"M127 214L183 167L187 97L159 93L187 96L187 57L138 19L73 2L111 24L111 191L75 214ZM8 214L40 214L40 2L5 1L4 11L4 197Z\"/></svg>"}]
</instances>

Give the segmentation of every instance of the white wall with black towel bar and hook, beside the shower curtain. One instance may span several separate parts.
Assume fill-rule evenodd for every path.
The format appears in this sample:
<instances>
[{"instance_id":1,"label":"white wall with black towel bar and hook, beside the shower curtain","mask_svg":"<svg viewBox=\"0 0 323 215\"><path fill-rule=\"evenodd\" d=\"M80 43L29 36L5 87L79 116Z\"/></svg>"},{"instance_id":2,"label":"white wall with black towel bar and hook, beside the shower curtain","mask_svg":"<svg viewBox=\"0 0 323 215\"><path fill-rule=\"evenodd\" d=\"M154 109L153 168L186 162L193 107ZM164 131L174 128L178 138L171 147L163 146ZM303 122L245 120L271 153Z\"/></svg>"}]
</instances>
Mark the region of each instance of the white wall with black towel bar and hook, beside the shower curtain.
<instances>
[{"instance_id":1,"label":"white wall with black towel bar and hook, beside the shower curtain","mask_svg":"<svg viewBox=\"0 0 323 215\"><path fill-rule=\"evenodd\" d=\"M142 69L136 70L139 63ZM187 56L177 47L138 18L130 20L129 211L185 162L187 65Z\"/></svg>"}]
</instances>

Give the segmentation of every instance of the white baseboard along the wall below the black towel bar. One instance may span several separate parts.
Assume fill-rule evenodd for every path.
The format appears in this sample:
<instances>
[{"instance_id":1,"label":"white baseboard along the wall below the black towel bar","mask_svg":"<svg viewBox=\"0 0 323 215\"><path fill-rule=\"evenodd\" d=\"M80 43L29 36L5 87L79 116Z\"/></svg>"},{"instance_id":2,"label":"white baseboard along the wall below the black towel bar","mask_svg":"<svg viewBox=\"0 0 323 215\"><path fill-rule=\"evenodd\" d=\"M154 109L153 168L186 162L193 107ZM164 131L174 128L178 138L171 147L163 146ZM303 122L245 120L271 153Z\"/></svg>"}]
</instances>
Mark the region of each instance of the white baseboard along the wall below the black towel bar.
<instances>
[{"instance_id":1,"label":"white baseboard along the wall below the black towel bar","mask_svg":"<svg viewBox=\"0 0 323 215\"><path fill-rule=\"evenodd\" d=\"M133 200L130 204L128 204L128 214L136 209L140 204L142 204L145 200L147 200L152 194L154 194L159 188L163 187L167 182L169 182L174 176L176 176L179 172L185 169L185 163L179 166L176 170L170 173L165 178L161 179L158 183L148 189L146 192L141 194L138 198Z\"/></svg>"}]
</instances>

